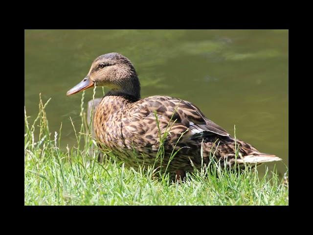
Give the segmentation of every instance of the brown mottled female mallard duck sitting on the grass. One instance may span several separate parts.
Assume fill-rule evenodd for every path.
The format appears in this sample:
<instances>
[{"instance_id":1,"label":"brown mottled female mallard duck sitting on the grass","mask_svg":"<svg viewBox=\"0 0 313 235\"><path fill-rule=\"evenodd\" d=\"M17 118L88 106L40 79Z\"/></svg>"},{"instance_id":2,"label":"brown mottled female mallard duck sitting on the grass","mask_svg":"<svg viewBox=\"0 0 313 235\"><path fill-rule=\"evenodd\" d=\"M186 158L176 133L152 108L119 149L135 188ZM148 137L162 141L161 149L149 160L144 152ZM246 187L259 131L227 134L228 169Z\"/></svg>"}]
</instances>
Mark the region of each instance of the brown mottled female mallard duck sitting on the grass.
<instances>
[{"instance_id":1,"label":"brown mottled female mallard duck sitting on the grass","mask_svg":"<svg viewBox=\"0 0 313 235\"><path fill-rule=\"evenodd\" d=\"M169 96L140 98L140 83L131 61L118 53L97 57L87 76L67 95L96 86L111 90L105 94L94 114L96 139L110 149L125 166L153 165L159 147L158 125L161 135L170 122L170 134L164 142L165 168L170 155L179 150L171 160L168 171L183 178L194 167L201 168L214 153L222 166L235 165L235 139L222 127L205 117L191 102ZM237 165L261 164L280 161L275 155L259 152L249 143L237 140L239 157ZM202 145L202 157L201 157ZM134 155L136 152L136 156Z\"/></svg>"}]
</instances>

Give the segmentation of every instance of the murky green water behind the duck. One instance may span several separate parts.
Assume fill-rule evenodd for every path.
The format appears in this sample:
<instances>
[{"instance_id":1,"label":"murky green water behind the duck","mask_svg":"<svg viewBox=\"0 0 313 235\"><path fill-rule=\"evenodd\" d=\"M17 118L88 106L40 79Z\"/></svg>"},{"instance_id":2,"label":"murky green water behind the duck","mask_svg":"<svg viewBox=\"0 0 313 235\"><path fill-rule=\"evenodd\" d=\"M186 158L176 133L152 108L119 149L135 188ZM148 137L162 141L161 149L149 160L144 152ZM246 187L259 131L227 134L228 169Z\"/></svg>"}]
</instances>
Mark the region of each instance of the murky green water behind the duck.
<instances>
[{"instance_id":1,"label":"murky green water behind the duck","mask_svg":"<svg viewBox=\"0 0 313 235\"><path fill-rule=\"evenodd\" d=\"M141 96L191 101L231 135L288 165L288 30L25 30L25 106L32 120L39 93L51 133L75 143L81 93L67 90L95 57L119 52L134 64ZM96 97L101 97L98 88ZM87 100L92 89L86 91ZM53 134L52 134L53 135ZM273 164L268 164L269 168Z\"/></svg>"}]
</instances>

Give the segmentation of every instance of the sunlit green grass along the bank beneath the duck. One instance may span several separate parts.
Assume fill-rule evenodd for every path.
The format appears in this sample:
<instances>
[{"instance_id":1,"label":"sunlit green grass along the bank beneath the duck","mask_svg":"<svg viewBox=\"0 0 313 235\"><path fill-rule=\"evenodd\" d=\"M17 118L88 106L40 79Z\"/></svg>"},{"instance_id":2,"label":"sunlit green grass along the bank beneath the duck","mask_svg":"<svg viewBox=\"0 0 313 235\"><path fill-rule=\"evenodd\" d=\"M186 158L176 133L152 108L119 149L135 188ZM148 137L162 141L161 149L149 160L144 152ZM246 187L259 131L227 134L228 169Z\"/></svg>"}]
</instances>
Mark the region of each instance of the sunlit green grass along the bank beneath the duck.
<instances>
[{"instance_id":1,"label":"sunlit green grass along the bank beneath the duck","mask_svg":"<svg viewBox=\"0 0 313 235\"><path fill-rule=\"evenodd\" d=\"M288 205L287 172L258 176L246 166L242 173L221 169L218 163L186 175L183 183L152 167L126 168L114 156L100 164L95 141L88 134L82 95L82 125L75 130L77 143L60 150L59 133L49 133L45 106L40 99L33 123L25 111L25 205ZM71 121L71 120L69 120ZM37 138L36 135L37 135ZM87 134L85 134L87 133ZM37 141L35 141L35 139ZM162 137L160 138L162 139ZM164 139L164 136L163 136ZM162 145L161 145L162 146ZM162 153L162 149L159 149ZM173 153L175 154L175 153ZM161 156L159 156L162 158ZM175 157L175 156L174 156ZM209 170L209 168L211 170Z\"/></svg>"}]
</instances>

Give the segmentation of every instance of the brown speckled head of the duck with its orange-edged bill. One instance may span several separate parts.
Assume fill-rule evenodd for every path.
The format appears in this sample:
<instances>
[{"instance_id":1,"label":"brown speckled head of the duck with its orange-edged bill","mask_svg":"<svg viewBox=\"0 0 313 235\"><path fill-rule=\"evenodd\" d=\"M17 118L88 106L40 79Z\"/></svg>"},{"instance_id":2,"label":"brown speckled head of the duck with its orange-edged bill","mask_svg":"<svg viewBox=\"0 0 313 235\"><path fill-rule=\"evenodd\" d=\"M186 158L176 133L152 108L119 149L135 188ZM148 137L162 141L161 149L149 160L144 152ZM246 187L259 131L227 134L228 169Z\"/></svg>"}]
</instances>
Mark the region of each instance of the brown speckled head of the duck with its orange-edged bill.
<instances>
[{"instance_id":1,"label":"brown speckled head of the duck with its orange-edged bill","mask_svg":"<svg viewBox=\"0 0 313 235\"><path fill-rule=\"evenodd\" d=\"M67 92L67 96L88 88L104 86L111 94L140 98L140 83L132 62L118 53L100 55L91 64L87 76Z\"/></svg>"}]
</instances>

